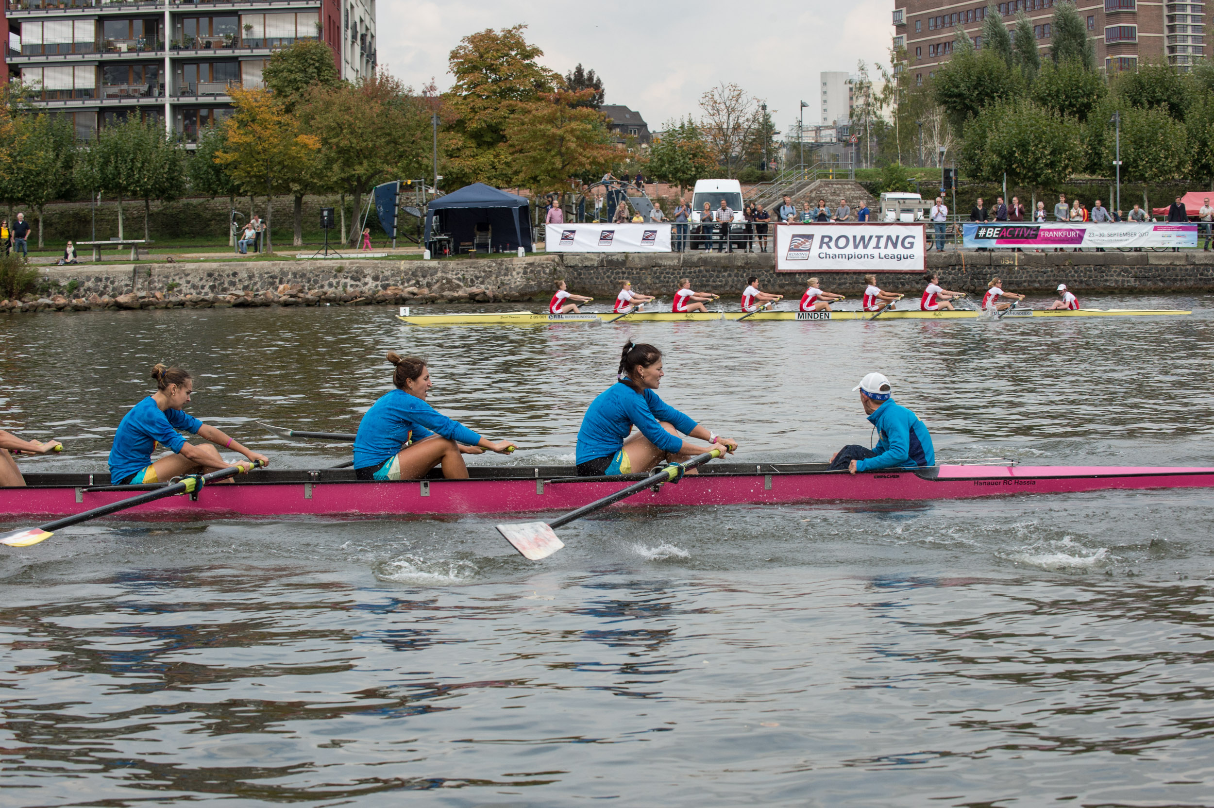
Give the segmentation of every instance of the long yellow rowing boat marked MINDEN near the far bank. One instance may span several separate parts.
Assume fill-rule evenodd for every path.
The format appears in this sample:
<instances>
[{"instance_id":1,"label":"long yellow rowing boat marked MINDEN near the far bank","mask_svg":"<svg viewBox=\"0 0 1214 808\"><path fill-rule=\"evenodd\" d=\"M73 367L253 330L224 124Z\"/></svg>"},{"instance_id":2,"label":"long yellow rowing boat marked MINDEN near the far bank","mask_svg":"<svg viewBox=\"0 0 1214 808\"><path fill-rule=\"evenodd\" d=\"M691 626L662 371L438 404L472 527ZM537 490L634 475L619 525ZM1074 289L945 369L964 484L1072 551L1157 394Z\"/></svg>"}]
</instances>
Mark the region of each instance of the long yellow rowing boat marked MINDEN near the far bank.
<instances>
[{"instance_id":1,"label":"long yellow rowing boat marked MINDEN near the far bank","mask_svg":"<svg viewBox=\"0 0 1214 808\"><path fill-rule=\"evenodd\" d=\"M1080 309L1048 309L1048 308L1012 308L1003 319L1023 319L1027 317L1178 317L1192 314L1191 311L1182 309L1156 309L1156 308L1080 308ZM533 312L487 312L469 314L413 314L401 313L397 315L403 323L409 325L549 325L562 323L685 323L703 320L738 320L745 317L745 312L691 312L677 314L674 312L634 312L620 317L613 312L597 312L588 314L535 314ZM978 317L993 318L993 314L974 311L955 312L917 312L917 311L890 311L881 314L881 320L966 320ZM758 312L747 317L747 323L758 320L868 320L873 318L873 312Z\"/></svg>"}]
</instances>

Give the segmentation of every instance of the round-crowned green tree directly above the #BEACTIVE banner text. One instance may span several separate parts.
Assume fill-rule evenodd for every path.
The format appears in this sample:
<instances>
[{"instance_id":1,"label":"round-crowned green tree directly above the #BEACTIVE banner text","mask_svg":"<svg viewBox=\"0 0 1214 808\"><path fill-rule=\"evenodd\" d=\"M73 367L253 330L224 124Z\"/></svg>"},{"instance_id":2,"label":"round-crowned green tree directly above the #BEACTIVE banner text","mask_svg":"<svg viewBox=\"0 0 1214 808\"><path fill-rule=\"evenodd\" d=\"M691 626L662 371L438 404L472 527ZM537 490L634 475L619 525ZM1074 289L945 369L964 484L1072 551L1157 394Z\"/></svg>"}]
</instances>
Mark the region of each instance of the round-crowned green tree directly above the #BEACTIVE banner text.
<instances>
[{"instance_id":1,"label":"round-crowned green tree directly above the #BEACTIVE banner text","mask_svg":"<svg viewBox=\"0 0 1214 808\"><path fill-rule=\"evenodd\" d=\"M961 166L975 180L999 182L1006 173L1009 183L1042 192L1082 165L1079 138L1074 119L1025 98L1004 102L983 109L969 126Z\"/></svg>"}]
</instances>

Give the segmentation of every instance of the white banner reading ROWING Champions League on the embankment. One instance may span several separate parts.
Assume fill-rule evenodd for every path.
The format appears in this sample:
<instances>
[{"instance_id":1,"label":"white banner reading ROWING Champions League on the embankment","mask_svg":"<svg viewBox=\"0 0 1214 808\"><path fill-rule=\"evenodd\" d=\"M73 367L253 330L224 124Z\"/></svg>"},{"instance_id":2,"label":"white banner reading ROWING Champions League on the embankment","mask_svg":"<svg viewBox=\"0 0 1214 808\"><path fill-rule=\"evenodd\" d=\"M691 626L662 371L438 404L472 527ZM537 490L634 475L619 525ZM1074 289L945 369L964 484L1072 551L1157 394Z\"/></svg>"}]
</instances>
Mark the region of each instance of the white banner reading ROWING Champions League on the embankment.
<instances>
[{"instance_id":1,"label":"white banner reading ROWING Champions League on the embankment","mask_svg":"<svg viewBox=\"0 0 1214 808\"><path fill-rule=\"evenodd\" d=\"M923 271L923 224L776 226L776 272Z\"/></svg>"}]
</instances>

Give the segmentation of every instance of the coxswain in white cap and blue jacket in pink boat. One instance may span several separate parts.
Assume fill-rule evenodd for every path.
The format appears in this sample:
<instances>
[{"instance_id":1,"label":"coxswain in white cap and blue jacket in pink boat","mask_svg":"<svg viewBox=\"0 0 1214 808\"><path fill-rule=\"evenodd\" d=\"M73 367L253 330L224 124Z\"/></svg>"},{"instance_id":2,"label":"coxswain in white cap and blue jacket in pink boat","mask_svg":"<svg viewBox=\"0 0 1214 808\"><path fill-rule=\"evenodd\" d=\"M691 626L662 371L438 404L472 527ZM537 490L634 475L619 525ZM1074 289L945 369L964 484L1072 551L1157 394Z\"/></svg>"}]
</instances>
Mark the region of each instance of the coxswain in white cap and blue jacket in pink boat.
<instances>
[{"instance_id":1,"label":"coxswain in white cap and blue jacket in pink boat","mask_svg":"<svg viewBox=\"0 0 1214 808\"><path fill-rule=\"evenodd\" d=\"M936 450L931 445L927 427L914 412L894 403L890 380L881 374L868 374L852 391L860 391L860 403L864 406L869 422L877 427L880 439L868 449L849 444L830 459L832 471L846 468L856 472L883 468L915 468L936 465Z\"/></svg>"}]
</instances>

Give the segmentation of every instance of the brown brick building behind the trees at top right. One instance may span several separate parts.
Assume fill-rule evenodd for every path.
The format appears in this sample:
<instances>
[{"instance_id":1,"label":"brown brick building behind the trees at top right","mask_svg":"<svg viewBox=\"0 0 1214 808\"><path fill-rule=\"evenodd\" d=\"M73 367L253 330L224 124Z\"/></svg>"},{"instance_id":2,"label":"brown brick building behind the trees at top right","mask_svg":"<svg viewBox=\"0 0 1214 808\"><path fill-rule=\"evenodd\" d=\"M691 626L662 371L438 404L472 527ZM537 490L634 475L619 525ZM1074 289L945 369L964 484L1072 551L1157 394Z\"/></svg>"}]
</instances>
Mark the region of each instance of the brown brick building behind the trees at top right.
<instances>
[{"instance_id":1,"label":"brown brick building behind the trees at top right","mask_svg":"<svg viewBox=\"0 0 1214 808\"><path fill-rule=\"evenodd\" d=\"M1014 28L1016 12L1023 11L1033 22L1038 47L1044 55L1050 46L1054 6L1060 0L1014 0L995 4L1004 24ZM1139 59L1167 59L1179 69L1206 53L1206 2L1168 2L1148 0L1078 0L1076 7L1088 23L1096 42L1096 61L1108 70L1138 67ZM987 5L981 1L895 0L894 27L896 46L906 49L907 70L915 84L931 78L953 52L955 28L963 27L981 47L982 22Z\"/></svg>"}]
</instances>

